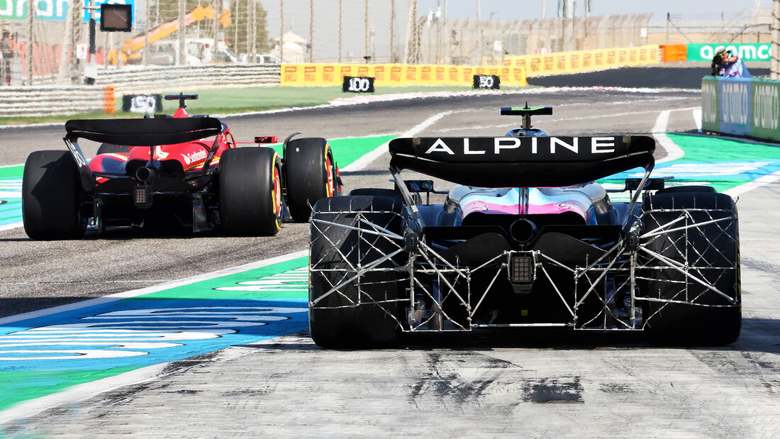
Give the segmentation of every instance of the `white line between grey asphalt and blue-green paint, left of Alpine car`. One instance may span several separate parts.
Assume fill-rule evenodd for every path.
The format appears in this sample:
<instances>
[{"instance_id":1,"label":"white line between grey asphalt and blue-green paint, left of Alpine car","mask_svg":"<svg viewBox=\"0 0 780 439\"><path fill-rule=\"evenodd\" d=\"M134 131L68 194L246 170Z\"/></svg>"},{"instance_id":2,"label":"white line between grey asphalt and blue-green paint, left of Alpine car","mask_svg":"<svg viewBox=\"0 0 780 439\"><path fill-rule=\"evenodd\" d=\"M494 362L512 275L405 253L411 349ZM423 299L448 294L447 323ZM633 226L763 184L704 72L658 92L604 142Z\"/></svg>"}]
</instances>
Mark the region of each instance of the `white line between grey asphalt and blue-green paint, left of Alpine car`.
<instances>
[{"instance_id":1,"label":"white line between grey asphalt and blue-green paint, left of Alpine car","mask_svg":"<svg viewBox=\"0 0 780 439\"><path fill-rule=\"evenodd\" d=\"M80 310L87 306L101 305L104 303L112 303L117 300L129 299L131 297L143 296L151 292L158 292L164 289L172 289L182 285L190 285L195 282L207 281L208 279L219 278L228 274L236 274L242 271L254 270L255 268L265 267L271 264L278 264L280 262L286 262L298 257L308 256L308 250L301 250L295 253L289 253L278 257L272 257L271 259L258 260L250 264L239 265L238 267L225 268L224 270L212 271L211 273L198 274L197 276L191 276L190 278L178 279L176 281L167 281L160 285L154 285L142 289L133 289L126 292L118 292L109 296L98 297L96 299L83 300L81 302L69 303L67 305L55 306L54 308L47 308L45 310L31 311L30 313L16 314L16 316L9 316L0 319L0 325L14 323L20 320L32 319L35 317L50 316L55 313L62 313L65 311Z\"/></svg>"}]
</instances>

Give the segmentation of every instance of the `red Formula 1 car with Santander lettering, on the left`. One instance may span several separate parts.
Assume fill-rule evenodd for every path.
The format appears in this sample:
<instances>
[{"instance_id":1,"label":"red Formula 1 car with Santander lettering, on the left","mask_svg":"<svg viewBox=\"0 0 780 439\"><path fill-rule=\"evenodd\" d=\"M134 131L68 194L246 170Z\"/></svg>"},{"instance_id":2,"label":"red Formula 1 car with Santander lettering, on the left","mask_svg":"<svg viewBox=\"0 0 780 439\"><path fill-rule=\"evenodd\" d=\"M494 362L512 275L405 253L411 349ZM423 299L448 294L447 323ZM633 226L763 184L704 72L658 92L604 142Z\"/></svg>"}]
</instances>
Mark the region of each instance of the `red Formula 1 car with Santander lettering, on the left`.
<instances>
[{"instance_id":1,"label":"red Formula 1 car with Santander lettering, on the left","mask_svg":"<svg viewBox=\"0 0 780 439\"><path fill-rule=\"evenodd\" d=\"M227 125L190 116L70 120L68 151L27 158L24 229L32 239L79 239L87 227L144 226L229 235L275 235L282 221L308 221L311 205L341 192L339 168L322 138L289 136L270 147L237 147ZM101 143L87 161L79 139ZM275 143L275 136L255 137Z\"/></svg>"}]
</instances>

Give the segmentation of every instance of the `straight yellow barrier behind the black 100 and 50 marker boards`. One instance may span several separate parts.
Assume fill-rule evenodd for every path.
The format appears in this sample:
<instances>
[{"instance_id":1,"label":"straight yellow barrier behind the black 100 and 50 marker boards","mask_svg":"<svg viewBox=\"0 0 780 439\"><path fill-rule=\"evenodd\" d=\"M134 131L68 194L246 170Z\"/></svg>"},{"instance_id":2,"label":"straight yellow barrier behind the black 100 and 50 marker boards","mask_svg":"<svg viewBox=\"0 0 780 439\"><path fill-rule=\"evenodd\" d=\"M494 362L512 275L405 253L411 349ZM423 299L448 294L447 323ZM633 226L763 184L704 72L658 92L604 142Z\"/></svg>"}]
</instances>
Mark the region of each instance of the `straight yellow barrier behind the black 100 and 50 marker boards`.
<instances>
[{"instance_id":1,"label":"straight yellow barrier behind the black 100 and 50 marker boards","mask_svg":"<svg viewBox=\"0 0 780 439\"><path fill-rule=\"evenodd\" d=\"M527 85L517 65L282 64L283 86L342 85L344 76L373 76L374 86L463 85L474 75L497 75L505 85Z\"/></svg>"}]
</instances>

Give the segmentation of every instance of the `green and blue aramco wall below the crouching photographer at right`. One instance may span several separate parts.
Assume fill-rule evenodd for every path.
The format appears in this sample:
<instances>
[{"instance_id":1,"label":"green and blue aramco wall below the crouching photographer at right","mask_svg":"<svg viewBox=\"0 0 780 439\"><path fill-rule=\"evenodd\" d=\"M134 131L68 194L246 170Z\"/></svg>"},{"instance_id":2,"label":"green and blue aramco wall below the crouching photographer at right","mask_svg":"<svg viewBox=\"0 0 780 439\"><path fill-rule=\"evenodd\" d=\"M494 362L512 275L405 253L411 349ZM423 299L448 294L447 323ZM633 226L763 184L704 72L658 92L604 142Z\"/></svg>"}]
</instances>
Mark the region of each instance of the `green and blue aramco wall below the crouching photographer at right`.
<instances>
[{"instance_id":1,"label":"green and blue aramco wall below the crouching photographer at right","mask_svg":"<svg viewBox=\"0 0 780 439\"><path fill-rule=\"evenodd\" d=\"M701 129L780 142L780 81L704 76Z\"/></svg>"}]
</instances>

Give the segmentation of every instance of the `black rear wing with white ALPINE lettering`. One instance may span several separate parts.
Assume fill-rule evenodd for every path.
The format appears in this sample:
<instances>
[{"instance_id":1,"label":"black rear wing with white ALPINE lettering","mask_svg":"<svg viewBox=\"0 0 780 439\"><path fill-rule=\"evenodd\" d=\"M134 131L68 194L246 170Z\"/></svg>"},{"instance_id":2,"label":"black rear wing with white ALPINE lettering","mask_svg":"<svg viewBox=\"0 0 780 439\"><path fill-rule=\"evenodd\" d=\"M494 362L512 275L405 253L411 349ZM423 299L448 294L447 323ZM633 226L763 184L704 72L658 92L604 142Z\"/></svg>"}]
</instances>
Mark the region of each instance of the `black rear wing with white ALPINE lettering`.
<instances>
[{"instance_id":1,"label":"black rear wing with white ALPINE lettering","mask_svg":"<svg viewBox=\"0 0 780 439\"><path fill-rule=\"evenodd\" d=\"M413 137L390 141L390 165L466 186L570 186L632 168L649 172L649 136Z\"/></svg>"}]
</instances>

